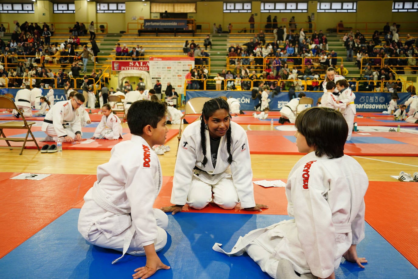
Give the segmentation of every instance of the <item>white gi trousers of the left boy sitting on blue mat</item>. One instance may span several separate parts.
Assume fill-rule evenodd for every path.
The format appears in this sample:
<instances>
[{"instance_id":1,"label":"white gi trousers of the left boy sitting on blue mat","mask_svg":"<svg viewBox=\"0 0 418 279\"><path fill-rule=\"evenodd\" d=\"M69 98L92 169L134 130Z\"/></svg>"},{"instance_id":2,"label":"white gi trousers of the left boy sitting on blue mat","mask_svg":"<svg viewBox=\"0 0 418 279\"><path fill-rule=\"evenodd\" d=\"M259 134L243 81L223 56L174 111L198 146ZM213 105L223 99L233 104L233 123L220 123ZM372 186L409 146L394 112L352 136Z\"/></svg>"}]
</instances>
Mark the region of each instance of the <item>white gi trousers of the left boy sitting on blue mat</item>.
<instances>
[{"instance_id":1,"label":"white gi trousers of the left boy sitting on blue mat","mask_svg":"<svg viewBox=\"0 0 418 279\"><path fill-rule=\"evenodd\" d=\"M162 210L159 210L156 208L153 208L153 210L154 210L154 217L155 217L155 220L157 221L157 226L158 226L157 228L158 235L157 235L157 238L154 240L154 246L155 246L155 251L158 252L162 248L164 248L164 246L166 246L166 243L167 243L167 233L165 229L167 228L167 225L168 225L168 217L167 217L167 214L164 213ZM109 226L117 225L117 222L115 222L114 224L107 224L107 225ZM122 251L125 234L127 233L129 229L130 228L127 228L122 233L108 238L106 237L106 235L102 233L102 231L99 230L99 228L97 228L96 224L93 224L88 232L87 241L89 241L93 245L97 245L103 248L114 249L116 251ZM142 242L139 240L138 234L136 232L133 235L132 241L126 253L130 255L134 255L134 256L145 255L144 246L142 245Z\"/></svg>"}]
</instances>

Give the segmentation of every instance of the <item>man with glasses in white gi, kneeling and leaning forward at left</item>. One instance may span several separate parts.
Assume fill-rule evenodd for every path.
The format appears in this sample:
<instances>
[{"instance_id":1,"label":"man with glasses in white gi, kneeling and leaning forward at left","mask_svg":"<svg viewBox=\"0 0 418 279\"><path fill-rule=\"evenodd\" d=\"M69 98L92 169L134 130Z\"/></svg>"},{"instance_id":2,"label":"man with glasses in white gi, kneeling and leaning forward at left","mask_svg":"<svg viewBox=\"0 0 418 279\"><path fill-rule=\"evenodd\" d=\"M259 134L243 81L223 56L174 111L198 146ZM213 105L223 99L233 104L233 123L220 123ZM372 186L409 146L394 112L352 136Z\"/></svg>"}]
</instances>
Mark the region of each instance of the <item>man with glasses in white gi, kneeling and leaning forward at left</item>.
<instances>
[{"instance_id":1,"label":"man with glasses in white gi, kneeling and leaning forward at left","mask_svg":"<svg viewBox=\"0 0 418 279\"><path fill-rule=\"evenodd\" d=\"M56 102L45 115L42 123L42 131L46 137L40 141L62 142L80 141L82 138L80 115L78 108L84 104L84 96L76 93L67 101Z\"/></svg>"}]
</instances>

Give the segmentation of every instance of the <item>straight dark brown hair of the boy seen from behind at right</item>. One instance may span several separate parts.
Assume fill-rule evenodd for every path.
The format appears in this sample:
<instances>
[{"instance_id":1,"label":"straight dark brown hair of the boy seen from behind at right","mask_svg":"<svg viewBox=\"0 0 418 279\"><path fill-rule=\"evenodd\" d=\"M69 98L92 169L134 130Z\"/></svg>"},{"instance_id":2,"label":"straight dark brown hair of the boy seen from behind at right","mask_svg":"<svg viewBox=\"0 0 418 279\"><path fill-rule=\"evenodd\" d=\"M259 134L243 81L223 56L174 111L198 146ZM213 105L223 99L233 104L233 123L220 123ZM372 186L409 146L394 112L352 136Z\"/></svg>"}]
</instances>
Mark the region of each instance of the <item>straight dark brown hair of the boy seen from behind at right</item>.
<instances>
[{"instance_id":1,"label":"straight dark brown hair of the boy seen from behind at right","mask_svg":"<svg viewBox=\"0 0 418 279\"><path fill-rule=\"evenodd\" d=\"M315 147L316 156L326 155L329 159L334 159L344 155L348 125L338 110L308 108L298 115L295 127L306 138L308 146Z\"/></svg>"}]
</instances>

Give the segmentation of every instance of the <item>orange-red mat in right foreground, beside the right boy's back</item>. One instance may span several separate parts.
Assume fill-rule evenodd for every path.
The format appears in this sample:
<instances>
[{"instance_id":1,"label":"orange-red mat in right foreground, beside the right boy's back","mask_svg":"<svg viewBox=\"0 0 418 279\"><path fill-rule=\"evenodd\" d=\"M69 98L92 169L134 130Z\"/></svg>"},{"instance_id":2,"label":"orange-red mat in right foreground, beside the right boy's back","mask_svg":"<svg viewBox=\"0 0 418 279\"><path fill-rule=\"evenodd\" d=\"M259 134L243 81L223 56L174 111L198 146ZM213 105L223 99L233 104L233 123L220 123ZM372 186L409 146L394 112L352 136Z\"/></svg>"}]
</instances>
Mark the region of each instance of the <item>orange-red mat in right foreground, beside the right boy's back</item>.
<instances>
[{"instance_id":1,"label":"orange-red mat in right foreground, beside the right boy's back","mask_svg":"<svg viewBox=\"0 0 418 279\"><path fill-rule=\"evenodd\" d=\"M418 268L417 182L370 181L366 221ZM367 241L367 235L366 239ZM367 267L366 267L367 268Z\"/></svg>"}]
</instances>

